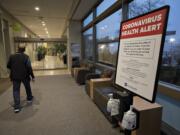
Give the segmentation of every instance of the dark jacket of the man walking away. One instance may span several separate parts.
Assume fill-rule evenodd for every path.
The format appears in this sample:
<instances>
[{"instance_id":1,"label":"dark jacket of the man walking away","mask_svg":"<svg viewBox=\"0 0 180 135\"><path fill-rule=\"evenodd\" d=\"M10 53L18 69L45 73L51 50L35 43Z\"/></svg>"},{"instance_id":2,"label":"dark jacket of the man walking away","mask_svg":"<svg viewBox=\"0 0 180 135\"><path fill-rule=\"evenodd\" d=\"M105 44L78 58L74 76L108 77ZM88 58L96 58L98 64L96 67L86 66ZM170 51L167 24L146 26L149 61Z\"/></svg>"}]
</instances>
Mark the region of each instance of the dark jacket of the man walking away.
<instances>
[{"instance_id":1,"label":"dark jacket of the man walking away","mask_svg":"<svg viewBox=\"0 0 180 135\"><path fill-rule=\"evenodd\" d=\"M24 53L16 53L10 56L7 68L10 69L11 80L22 81L34 78L29 56Z\"/></svg>"}]
</instances>

